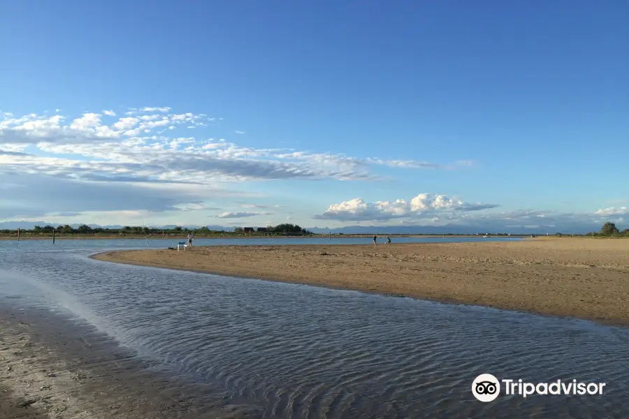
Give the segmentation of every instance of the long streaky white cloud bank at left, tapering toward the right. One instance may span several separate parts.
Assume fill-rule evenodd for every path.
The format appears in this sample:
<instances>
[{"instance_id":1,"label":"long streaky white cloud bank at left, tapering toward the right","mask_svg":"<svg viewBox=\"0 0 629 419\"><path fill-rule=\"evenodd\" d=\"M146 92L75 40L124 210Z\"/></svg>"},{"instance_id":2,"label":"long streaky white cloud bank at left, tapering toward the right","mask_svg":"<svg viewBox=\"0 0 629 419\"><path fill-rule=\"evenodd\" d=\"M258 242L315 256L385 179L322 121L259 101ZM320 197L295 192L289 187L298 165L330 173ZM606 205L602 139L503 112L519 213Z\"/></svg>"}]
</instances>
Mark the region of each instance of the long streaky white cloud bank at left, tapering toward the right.
<instances>
[{"instance_id":1,"label":"long streaky white cloud bank at left, tapering toward the right","mask_svg":"<svg viewBox=\"0 0 629 419\"><path fill-rule=\"evenodd\" d=\"M161 179L165 181L233 182L255 179L373 180L373 166L442 168L424 161L359 159L332 153L287 149L240 147L219 138L181 135L189 126L205 126L206 116L168 113L170 108L141 108L133 116L108 124L103 114L85 112L80 117L29 114L5 117L0 122L0 149L24 152L35 147L40 154L15 155L0 160L0 170L38 172L87 172L101 178ZM154 113L159 112L159 113ZM115 112L106 111L111 117ZM177 134L173 131L177 130ZM57 157L58 156L58 157ZM76 156L72 159L68 156Z\"/></svg>"}]
</instances>

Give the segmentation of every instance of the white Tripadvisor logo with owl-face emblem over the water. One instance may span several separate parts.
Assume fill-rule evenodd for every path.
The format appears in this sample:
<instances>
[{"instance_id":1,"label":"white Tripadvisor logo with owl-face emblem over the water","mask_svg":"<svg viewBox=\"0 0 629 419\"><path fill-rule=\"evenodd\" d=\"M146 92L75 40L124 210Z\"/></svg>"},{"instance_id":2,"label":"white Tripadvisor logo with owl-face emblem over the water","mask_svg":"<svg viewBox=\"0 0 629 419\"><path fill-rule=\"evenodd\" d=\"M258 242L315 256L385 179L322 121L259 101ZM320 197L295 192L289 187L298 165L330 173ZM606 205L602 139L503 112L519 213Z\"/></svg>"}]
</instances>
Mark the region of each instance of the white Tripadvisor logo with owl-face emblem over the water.
<instances>
[{"instance_id":1,"label":"white Tripadvisor logo with owl-face emblem over the water","mask_svg":"<svg viewBox=\"0 0 629 419\"><path fill-rule=\"evenodd\" d=\"M498 380L491 374L480 374L472 381L472 394L481 402L492 402L500 395L501 384L505 395L602 395L605 383L581 383L572 381L553 381L552 383L526 383L521 379Z\"/></svg>"}]
</instances>

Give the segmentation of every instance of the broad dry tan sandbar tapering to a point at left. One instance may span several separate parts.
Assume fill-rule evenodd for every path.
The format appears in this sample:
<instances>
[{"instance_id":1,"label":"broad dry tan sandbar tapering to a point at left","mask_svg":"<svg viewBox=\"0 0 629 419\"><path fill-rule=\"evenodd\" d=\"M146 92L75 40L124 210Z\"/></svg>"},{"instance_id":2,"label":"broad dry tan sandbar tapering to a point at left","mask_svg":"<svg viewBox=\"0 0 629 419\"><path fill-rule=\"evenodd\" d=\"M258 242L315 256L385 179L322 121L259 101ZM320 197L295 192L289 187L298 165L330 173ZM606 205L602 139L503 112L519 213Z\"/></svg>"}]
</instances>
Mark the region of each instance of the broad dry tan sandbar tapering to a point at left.
<instances>
[{"instance_id":1,"label":"broad dry tan sandbar tapering to a point at left","mask_svg":"<svg viewBox=\"0 0 629 419\"><path fill-rule=\"evenodd\" d=\"M110 251L93 257L629 325L629 240L377 247L321 242Z\"/></svg>"}]
</instances>

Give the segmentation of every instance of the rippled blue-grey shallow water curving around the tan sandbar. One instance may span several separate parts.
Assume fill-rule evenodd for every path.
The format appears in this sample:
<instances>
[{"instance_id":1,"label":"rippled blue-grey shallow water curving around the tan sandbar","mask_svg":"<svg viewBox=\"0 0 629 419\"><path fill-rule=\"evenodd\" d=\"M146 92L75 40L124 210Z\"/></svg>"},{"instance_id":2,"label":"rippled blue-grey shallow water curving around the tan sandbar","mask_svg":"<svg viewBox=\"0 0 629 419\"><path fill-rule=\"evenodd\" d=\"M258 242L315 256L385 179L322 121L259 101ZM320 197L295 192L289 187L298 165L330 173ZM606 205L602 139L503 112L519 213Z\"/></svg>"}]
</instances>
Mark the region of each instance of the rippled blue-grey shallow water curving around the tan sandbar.
<instances>
[{"instance_id":1,"label":"rippled blue-grey shallow water curving around the tan sandbar","mask_svg":"<svg viewBox=\"0 0 629 419\"><path fill-rule=\"evenodd\" d=\"M0 297L69 309L263 417L629 417L627 328L87 258L138 240L6 243ZM605 394L485 404L470 390L482 373L604 382Z\"/></svg>"}]
</instances>

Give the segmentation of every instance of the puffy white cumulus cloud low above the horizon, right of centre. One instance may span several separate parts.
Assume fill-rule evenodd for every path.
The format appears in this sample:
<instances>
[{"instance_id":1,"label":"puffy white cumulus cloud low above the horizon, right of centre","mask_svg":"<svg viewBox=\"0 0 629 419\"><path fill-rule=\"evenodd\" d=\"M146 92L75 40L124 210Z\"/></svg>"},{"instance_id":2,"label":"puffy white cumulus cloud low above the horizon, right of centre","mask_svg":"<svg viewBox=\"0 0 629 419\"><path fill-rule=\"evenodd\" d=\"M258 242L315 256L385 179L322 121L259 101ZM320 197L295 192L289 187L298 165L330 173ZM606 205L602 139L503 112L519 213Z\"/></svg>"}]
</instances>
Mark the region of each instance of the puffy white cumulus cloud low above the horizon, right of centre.
<instances>
[{"instance_id":1,"label":"puffy white cumulus cloud low above the horizon, right of centre","mask_svg":"<svg viewBox=\"0 0 629 419\"><path fill-rule=\"evenodd\" d=\"M368 203L362 198L354 198L339 204L330 205L315 219L337 221L386 221L407 217L426 216L445 212L470 212L495 208L498 205L467 203L432 193L420 193L411 200L377 201Z\"/></svg>"}]
</instances>

